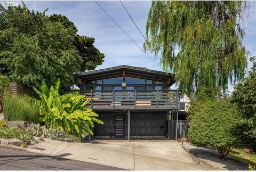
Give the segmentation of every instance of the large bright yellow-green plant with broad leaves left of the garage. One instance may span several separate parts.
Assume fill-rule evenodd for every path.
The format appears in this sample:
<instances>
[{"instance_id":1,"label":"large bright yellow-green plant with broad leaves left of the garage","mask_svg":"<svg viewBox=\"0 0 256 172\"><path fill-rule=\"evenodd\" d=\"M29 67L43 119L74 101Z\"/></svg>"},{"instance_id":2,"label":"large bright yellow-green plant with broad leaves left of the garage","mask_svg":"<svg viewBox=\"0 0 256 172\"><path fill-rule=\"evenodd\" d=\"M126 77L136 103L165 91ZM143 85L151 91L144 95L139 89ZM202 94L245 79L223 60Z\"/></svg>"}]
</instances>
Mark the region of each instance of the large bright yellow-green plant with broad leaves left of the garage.
<instances>
[{"instance_id":1,"label":"large bright yellow-green plant with broad leaves left of the garage","mask_svg":"<svg viewBox=\"0 0 256 172\"><path fill-rule=\"evenodd\" d=\"M43 81L39 89L34 87L41 100L29 97L29 100L38 108L45 127L59 129L80 137L84 137L83 130L87 134L93 134L89 126L94 127L93 122L98 124L103 122L96 118L97 113L85 107L90 100L85 100L85 96L79 95L78 92L59 95L59 86L60 79L50 89Z\"/></svg>"}]
</instances>

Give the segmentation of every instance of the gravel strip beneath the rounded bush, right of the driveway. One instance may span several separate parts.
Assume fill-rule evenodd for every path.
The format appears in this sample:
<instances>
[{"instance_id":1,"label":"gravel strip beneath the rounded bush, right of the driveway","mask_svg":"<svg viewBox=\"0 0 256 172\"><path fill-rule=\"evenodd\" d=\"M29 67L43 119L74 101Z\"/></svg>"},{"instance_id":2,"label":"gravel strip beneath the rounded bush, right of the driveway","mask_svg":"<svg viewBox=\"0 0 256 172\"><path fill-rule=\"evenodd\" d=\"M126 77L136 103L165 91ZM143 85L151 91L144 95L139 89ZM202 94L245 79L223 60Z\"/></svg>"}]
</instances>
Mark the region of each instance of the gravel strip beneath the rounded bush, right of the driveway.
<instances>
[{"instance_id":1,"label":"gravel strip beneath the rounded bush, right of the driveway","mask_svg":"<svg viewBox=\"0 0 256 172\"><path fill-rule=\"evenodd\" d=\"M187 142L179 143L196 163L202 166L219 168L220 170L248 170L246 162L238 161L229 155L226 160L218 158L218 151L212 148L200 148Z\"/></svg>"}]
</instances>

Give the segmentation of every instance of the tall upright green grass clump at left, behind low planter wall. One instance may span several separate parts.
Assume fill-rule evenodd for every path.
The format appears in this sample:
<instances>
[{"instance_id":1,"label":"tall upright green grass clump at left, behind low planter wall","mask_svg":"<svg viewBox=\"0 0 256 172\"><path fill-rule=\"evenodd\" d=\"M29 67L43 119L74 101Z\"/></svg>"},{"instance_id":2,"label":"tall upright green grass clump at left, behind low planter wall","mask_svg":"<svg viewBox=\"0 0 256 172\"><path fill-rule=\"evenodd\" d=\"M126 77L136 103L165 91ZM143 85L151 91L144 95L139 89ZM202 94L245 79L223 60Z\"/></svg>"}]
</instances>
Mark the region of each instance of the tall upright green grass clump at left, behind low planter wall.
<instances>
[{"instance_id":1,"label":"tall upright green grass clump at left, behind low planter wall","mask_svg":"<svg viewBox=\"0 0 256 172\"><path fill-rule=\"evenodd\" d=\"M7 121L38 121L38 111L26 97L3 95L4 119Z\"/></svg>"}]
</instances>

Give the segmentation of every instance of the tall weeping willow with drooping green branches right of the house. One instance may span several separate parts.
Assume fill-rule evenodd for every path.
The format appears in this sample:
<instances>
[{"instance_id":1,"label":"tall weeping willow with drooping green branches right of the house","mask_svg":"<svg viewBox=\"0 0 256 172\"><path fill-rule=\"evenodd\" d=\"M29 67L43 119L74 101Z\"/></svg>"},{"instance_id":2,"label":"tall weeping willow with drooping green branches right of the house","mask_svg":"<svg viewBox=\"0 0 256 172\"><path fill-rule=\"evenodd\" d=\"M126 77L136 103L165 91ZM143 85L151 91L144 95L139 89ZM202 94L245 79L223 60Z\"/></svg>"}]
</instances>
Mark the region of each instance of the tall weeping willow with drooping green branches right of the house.
<instances>
[{"instance_id":1,"label":"tall weeping willow with drooping green branches right of the house","mask_svg":"<svg viewBox=\"0 0 256 172\"><path fill-rule=\"evenodd\" d=\"M146 51L161 54L182 92L228 90L247 68L241 1L153 1L146 27Z\"/></svg>"}]
</instances>

